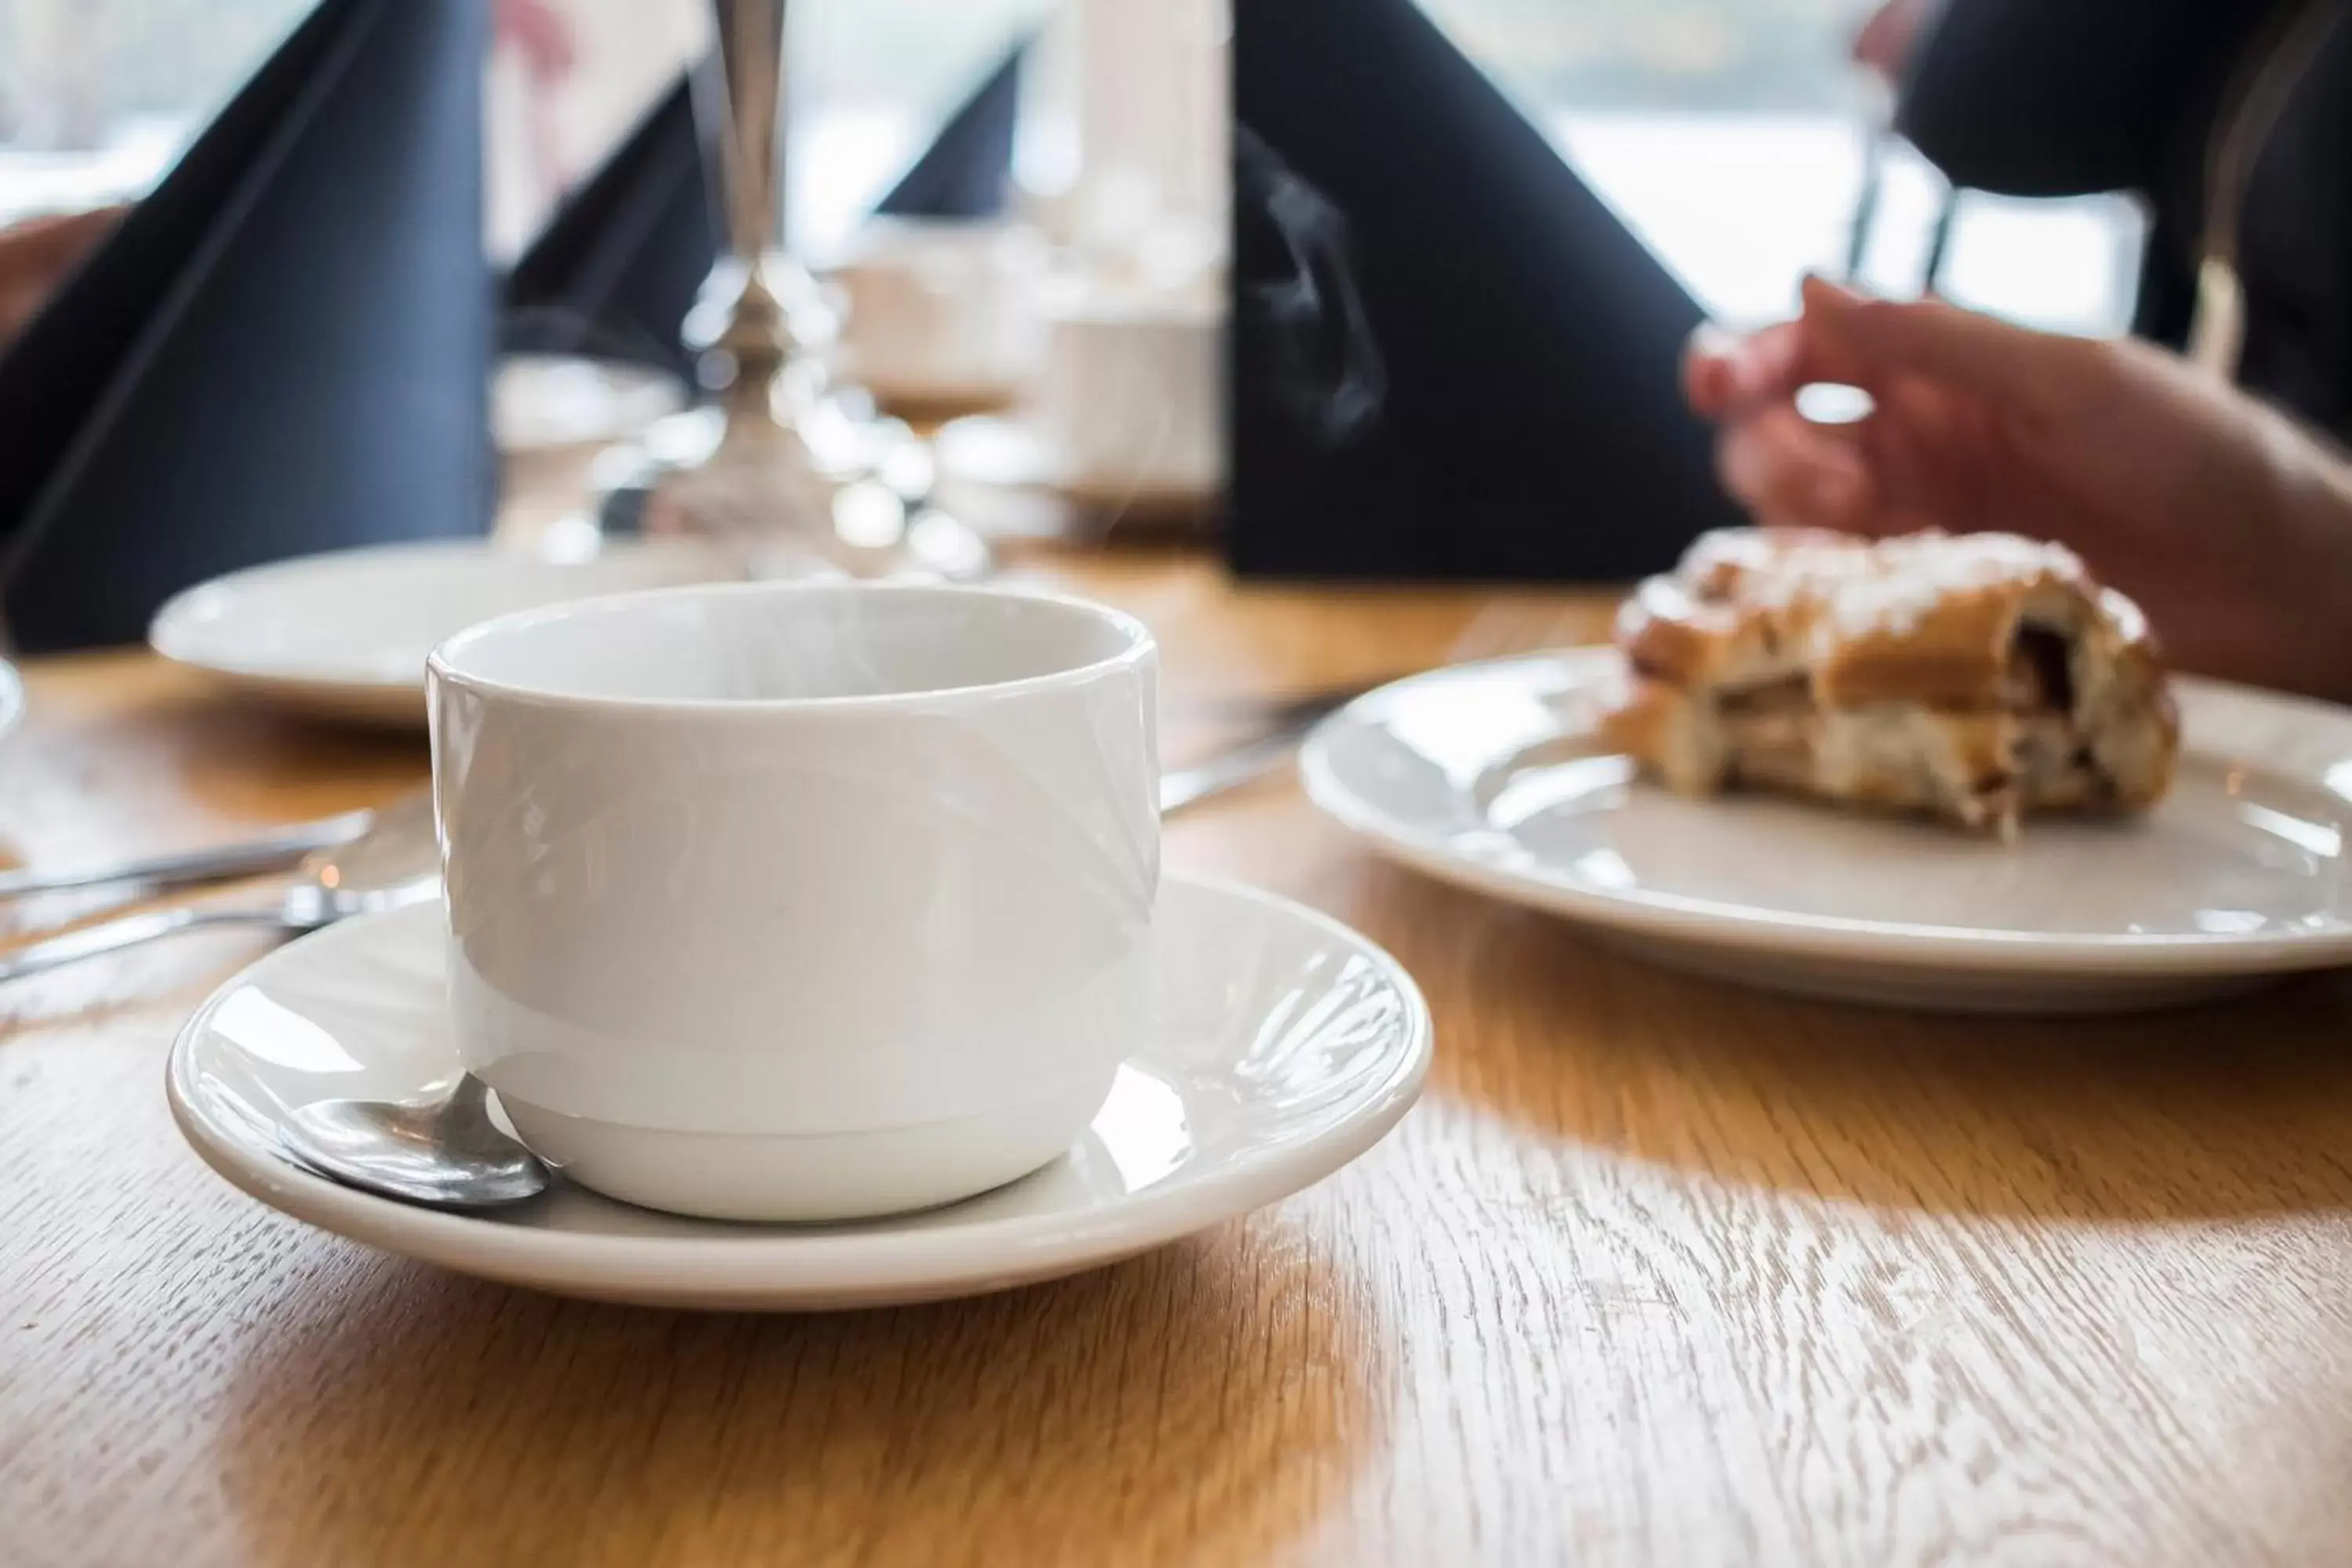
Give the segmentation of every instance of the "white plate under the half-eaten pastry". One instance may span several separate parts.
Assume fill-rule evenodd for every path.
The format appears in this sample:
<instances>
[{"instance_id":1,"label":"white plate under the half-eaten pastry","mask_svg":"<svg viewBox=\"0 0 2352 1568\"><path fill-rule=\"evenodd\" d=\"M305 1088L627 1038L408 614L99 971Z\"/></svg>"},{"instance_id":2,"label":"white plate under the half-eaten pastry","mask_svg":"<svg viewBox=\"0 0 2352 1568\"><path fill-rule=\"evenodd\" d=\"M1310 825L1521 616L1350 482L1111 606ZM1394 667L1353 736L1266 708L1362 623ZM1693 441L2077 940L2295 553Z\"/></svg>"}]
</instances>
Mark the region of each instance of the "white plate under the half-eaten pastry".
<instances>
[{"instance_id":1,"label":"white plate under the half-eaten pastry","mask_svg":"<svg viewBox=\"0 0 2352 1568\"><path fill-rule=\"evenodd\" d=\"M2180 679L2143 820L2018 844L1769 797L1679 799L1592 743L1611 649L1437 670L1341 710L1301 776L1425 872L1752 985L1952 1011L2159 1006L2352 961L2352 712Z\"/></svg>"}]
</instances>

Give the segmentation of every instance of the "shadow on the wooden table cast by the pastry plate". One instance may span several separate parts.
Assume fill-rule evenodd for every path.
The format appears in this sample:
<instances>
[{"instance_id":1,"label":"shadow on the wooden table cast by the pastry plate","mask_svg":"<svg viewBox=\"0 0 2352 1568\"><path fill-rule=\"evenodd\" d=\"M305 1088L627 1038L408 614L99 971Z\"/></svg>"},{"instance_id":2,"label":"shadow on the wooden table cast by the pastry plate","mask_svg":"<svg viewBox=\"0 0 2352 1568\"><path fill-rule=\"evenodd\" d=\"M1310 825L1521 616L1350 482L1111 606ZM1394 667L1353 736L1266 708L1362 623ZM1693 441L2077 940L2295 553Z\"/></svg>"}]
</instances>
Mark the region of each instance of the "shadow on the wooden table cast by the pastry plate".
<instances>
[{"instance_id":1,"label":"shadow on the wooden table cast by the pastry plate","mask_svg":"<svg viewBox=\"0 0 2352 1568\"><path fill-rule=\"evenodd\" d=\"M1929 1213L2352 1206L2352 973L2119 1018L1898 1013L1684 978L1545 914L1364 877L1359 903L1399 912L1371 933L1439 1018L1430 1093L1541 1138ZM1446 1030L1472 1013L1475 1034Z\"/></svg>"}]
</instances>

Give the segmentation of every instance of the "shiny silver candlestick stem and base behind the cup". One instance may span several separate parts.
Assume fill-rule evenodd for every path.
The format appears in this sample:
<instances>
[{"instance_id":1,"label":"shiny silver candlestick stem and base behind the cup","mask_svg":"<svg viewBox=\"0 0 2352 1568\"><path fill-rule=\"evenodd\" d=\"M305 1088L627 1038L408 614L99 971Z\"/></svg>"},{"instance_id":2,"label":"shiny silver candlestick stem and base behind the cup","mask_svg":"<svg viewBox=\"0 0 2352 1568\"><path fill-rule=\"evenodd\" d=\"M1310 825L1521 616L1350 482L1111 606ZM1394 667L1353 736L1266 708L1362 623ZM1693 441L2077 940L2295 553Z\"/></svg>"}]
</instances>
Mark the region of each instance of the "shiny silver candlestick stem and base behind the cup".
<instances>
[{"instance_id":1,"label":"shiny silver candlestick stem and base behind the cup","mask_svg":"<svg viewBox=\"0 0 2352 1568\"><path fill-rule=\"evenodd\" d=\"M826 374L809 353L821 346L802 343L793 322L823 310L779 244L786 0L715 0L715 12L720 68L696 78L696 110L720 148L729 254L687 336L724 423L708 456L654 480L644 529L731 541L760 574L978 576L988 545L971 529L910 505L856 458L811 451L804 421L821 409ZM840 423L837 407L826 411Z\"/></svg>"}]
</instances>

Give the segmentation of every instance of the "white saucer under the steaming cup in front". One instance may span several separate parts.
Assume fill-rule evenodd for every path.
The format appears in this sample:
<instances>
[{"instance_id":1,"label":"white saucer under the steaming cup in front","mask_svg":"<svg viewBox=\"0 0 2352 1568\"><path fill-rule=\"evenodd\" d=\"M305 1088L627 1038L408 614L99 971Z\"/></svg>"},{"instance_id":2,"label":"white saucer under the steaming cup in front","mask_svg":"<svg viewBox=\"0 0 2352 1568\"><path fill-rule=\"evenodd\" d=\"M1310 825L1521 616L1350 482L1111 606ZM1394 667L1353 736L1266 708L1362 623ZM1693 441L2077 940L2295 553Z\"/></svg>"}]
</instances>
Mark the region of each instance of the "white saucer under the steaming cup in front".
<instances>
[{"instance_id":1,"label":"white saucer under the steaming cup in front","mask_svg":"<svg viewBox=\"0 0 2352 1568\"><path fill-rule=\"evenodd\" d=\"M263 1204L466 1274L597 1300L826 1309L1075 1274L1272 1204L1397 1124L1430 1013L1385 952L1240 886L1167 879L1155 1025L1063 1159L967 1204L863 1225L724 1225L581 1187L489 1218L412 1208L287 1164L278 1121L329 1098L426 1098L456 1056L437 903L329 926L223 985L172 1046L172 1114Z\"/></svg>"}]
</instances>

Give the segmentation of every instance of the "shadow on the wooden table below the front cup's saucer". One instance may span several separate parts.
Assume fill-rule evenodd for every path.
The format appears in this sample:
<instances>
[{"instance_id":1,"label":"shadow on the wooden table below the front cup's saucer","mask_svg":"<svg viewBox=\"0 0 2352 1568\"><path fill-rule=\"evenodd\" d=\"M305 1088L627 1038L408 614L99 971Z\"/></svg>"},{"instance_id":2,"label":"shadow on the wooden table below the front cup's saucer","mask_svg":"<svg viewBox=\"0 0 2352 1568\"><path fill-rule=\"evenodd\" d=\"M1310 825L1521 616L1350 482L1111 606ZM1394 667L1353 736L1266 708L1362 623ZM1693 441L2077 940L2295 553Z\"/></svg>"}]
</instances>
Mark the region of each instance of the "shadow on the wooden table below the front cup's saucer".
<instances>
[{"instance_id":1,"label":"shadow on the wooden table below the front cup's saucer","mask_svg":"<svg viewBox=\"0 0 2352 1568\"><path fill-rule=\"evenodd\" d=\"M1244 1225L818 1316L597 1307L353 1251L238 1368L221 1479L275 1563L1258 1556L1381 1446L1388 1368L1359 1291L1279 1220Z\"/></svg>"}]
</instances>

